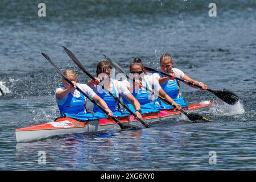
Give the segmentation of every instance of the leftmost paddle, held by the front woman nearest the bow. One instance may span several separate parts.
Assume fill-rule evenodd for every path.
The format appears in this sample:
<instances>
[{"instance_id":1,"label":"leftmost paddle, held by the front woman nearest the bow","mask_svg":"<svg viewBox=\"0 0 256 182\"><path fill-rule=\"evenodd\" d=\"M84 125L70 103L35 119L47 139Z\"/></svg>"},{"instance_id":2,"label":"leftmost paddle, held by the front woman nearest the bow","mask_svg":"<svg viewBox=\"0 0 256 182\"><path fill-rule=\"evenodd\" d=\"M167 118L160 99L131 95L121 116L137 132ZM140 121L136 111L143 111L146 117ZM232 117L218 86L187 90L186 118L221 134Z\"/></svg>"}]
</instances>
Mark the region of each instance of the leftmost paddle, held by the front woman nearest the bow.
<instances>
[{"instance_id":1,"label":"leftmost paddle, held by the front woman nearest the bow","mask_svg":"<svg viewBox=\"0 0 256 182\"><path fill-rule=\"evenodd\" d=\"M74 86L73 82L68 80L68 78L63 74L63 72L60 71L60 68L57 67L57 65L45 54L42 52L42 55L44 57L46 57L46 59L49 61L49 63L51 63L53 65L53 67L56 69L56 71L58 73L60 73L61 76L63 76L64 80L66 80L69 84L71 84L72 86ZM94 101L92 98L90 98L86 93L84 93L78 86L76 87L77 90L79 90L79 92L81 92L82 94L84 94L85 97L87 97L93 104L97 105L102 111L104 111L105 114L109 114L108 111L106 111L103 107L101 107L96 101ZM113 121L115 121L122 130L136 130L136 129L141 129L137 126L132 126L132 125L124 125L123 123L121 123L120 121L118 121L117 118L111 117L113 119Z\"/></svg>"}]
</instances>

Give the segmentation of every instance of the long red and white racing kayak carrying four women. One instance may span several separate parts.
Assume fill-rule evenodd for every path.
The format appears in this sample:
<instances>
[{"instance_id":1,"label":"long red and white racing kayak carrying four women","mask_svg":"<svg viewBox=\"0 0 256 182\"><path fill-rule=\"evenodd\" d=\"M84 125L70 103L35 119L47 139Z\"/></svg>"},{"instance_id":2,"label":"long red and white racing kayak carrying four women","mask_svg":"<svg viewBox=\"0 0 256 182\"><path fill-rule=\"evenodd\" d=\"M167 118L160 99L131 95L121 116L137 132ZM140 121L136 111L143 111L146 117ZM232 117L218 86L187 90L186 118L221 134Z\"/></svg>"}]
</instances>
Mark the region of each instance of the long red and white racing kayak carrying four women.
<instances>
[{"instance_id":1,"label":"long red and white racing kayak carrying four women","mask_svg":"<svg viewBox=\"0 0 256 182\"><path fill-rule=\"evenodd\" d=\"M213 101L204 101L199 104L189 104L187 111L198 110L212 105ZM161 121L167 118L177 118L181 114L180 111L175 110L161 110L156 113L143 114L143 120L147 123ZM118 117L118 120L122 123L133 123L140 125L140 123L134 119L133 115L127 117ZM16 129L16 142L28 142L31 140L37 140L47 138L55 135L64 134L76 134L87 133L110 129L120 129L120 127L112 119L101 118L92 121L77 121L73 118L59 118L56 121L43 123L40 125L23 127Z\"/></svg>"}]
</instances>

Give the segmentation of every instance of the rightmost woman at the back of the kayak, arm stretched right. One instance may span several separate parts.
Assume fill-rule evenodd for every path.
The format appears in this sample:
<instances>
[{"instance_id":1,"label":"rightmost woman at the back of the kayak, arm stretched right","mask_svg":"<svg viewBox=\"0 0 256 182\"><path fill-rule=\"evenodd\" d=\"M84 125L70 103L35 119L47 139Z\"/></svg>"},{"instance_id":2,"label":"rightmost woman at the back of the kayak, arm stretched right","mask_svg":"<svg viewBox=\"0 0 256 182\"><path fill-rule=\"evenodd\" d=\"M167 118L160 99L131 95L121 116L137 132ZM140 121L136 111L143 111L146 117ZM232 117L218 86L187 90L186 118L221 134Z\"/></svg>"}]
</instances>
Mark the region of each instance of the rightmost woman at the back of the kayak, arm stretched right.
<instances>
[{"instance_id":1,"label":"rightmost woman at the back of the kayak, arm stretched right","mask_svg":"<svg viewBox=\"0 0 256 182\"><path fill-rule=\"evenodd\" d=\"M175 79L182 78L183 80L187 80L189 82L193 82L194 84L202 86L203 89L207 89L207 85L202 82L193 80L184 74L183 71L177 68L173 68L174 61L172 60L172 56L169 53L164 53L160 57L160 71L167 73L173 77L164 76L162 73L154 73L152 76L159 80L159 84L162 86L163 90L170 96L177 104L180 104L181 107L187 107L188 104L184 101L184 98L180 96L179 90L179 82ZM192 86L192 85L190 85ZM192 86L193 88L197 88ZM167 105L161 100L157 100L162 109L171 109L172 106ZM160 109L160 108L159 108Z\"/></svg>"}]
</instances>

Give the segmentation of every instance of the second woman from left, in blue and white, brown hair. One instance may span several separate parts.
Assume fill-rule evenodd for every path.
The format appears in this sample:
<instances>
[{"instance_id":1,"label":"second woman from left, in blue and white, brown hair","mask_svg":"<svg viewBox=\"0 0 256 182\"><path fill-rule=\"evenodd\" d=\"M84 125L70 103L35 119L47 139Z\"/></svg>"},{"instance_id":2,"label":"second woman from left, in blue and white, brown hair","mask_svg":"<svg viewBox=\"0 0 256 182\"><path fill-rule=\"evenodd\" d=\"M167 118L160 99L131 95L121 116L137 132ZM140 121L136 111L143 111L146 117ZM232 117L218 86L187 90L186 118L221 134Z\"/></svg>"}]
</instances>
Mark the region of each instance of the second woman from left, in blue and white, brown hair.
<instances>
[{"instance_id":1,"label":"second woman from left, in blue and white, brown hair","mask_svg":"<svg viewBox=\"0 0 256 182\"><path fill-rule=\"evenodd\" d=\"M117 101L109 94L108 90L117 98L120 97L126 98L127 101L131 105L133 105L133 110L137 115L137 119L142 119L141 115L141 105L139 102L133 97L133 95L129 92L129 90L122 84L121 81L117 81L111 78L111 69L112 66L109 64L107 60L103 60L97 65L97 78L96 81L90 80L87 85L90 86L94 90L95 93L98 94L109 106L110 110L112 110L113 115L116 117L122 117L125 115L130 115L130 113L123 113L120 110L120 106ZM101 83L101 85L99 85ZM102 87L102 85L104 87ZM107 90L106 90L107 89ZM104 118L105 114L96 106L93 107L94 116Z\"/></svg>"}]
</instances>

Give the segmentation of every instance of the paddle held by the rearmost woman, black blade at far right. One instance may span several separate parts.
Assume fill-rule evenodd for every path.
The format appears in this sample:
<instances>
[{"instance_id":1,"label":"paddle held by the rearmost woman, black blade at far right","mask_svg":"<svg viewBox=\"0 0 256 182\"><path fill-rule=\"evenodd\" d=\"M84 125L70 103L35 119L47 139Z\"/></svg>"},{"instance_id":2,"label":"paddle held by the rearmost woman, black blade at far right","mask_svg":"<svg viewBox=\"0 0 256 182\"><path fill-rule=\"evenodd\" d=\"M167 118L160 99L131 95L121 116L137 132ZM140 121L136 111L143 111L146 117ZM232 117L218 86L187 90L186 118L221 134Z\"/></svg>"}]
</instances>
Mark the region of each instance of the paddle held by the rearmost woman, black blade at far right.
<instances>
[{"instance_id":1,"label":"paddle held by the rearmost woman, black blade at far right","mask_svg":"<svg viewBox=\"0 0 256 182\"><path fill-rule=\"evenodd\" d=\"M146 69L146 71L158 72L158 73L162 73L165 76L172 77L171 75L169 75L167 73L157 71L156 69L153 69L153 68L148 68L148 67L144 67L144 68ZM190 81L187 81L187 80L183 80L182 78L177 78L176 77L176 80L180 80L182 82L187 83L188 85L193 85L193 86L196 86L200 89L202 88L202 86L194 84L194 83L192 83ZM206 89L206 90L209 91L209 92L212 92L215 96L217 96L218 98L220 98L222 101L226 102L229 105L234 105L239 100L239 97L234 92L231 92L231 91L226 90L226 89L223 89L223 90Z\"/></svg>"}]
</instances>

